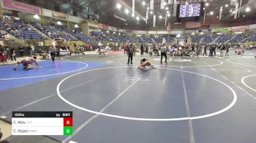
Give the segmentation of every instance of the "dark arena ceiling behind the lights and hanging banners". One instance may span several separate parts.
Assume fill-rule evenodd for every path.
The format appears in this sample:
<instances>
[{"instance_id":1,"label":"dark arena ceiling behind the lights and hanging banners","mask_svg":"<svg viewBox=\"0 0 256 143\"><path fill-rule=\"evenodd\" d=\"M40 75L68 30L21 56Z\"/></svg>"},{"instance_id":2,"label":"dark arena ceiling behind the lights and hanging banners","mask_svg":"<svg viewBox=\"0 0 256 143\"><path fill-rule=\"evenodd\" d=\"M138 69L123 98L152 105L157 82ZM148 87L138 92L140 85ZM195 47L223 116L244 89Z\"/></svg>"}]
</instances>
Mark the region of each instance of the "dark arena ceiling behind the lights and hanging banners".
<instances>
[{"instance_id":1,"label":"dark arena ceiling behind the lights and hanging banners","mask_svg":"<svg viewBox=\"0 0 256 143\"><path fill-rule=\"evenodd\" d=\"M50 3L45 3L44 0L17 0L27 4L44 7L59 12L64 12L69 15L75 15L80 18L97 20L99 23L105 23L110 26L120 28L151 28L153 26L153 15L148 12L148 23L146 24L146 10L150 0L135 0L135 17L132 17L132 0L55 0ZM168 0L165 0L166 3ZM234 21L233 10L235 6L230 4L230 1L236 0L177 0L177 3L204 1L206 18L218 19L219 9L223 7L222 21ZM235 21L244 20L244 18L255 18L256 15L256 0L237 0L241 1L240 18ZM145 2L145 4L143 4ZM206 6L208 3L208 6ZM116 5L121 4L121 9L117 9ZM168 10L160 9L161 0L154 0L154 15L157 16L156 27L165 26L165 14L167 11L173 14L173 5L167 4ZM246 7L249 7L249 12L246 12ZM125 9L129 9L129 14L125 13ZM210 12L214 12L210 15ZM162 15L162 19L159 19ZM140 20L136 20L139 17ZM176 17L170 15L167 17L167 23L175 23Z\"/></svg>"}]
</instances>

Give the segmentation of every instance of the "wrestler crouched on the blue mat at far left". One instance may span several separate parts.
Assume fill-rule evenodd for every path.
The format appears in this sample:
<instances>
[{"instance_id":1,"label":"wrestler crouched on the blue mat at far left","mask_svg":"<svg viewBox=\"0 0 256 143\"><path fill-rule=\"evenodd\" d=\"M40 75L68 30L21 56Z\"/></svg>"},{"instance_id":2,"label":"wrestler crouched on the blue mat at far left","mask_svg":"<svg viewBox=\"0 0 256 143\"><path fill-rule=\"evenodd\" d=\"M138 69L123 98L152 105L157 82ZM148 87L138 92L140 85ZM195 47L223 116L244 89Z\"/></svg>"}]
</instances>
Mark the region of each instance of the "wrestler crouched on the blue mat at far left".
<instances>
[{"instance_id":1,"label":"wrestler crouched on the blue mat at far left","mask_svg":"<svg viewBox=\"0 0 256 143\"><path fill-rule=\"evenodd\" d=\"M16 70L18 68L18 65L22 63L23 64L23 69L29 70L29 69L34 69L35 66L32 65L32 63L36 63L37 67L39 68L39 65L37 63L37 57L34 56L33 58L29 57L26 59L23 59L22 61L18 61L15 64L14 70Z\"/></svg>"}]
</instances>

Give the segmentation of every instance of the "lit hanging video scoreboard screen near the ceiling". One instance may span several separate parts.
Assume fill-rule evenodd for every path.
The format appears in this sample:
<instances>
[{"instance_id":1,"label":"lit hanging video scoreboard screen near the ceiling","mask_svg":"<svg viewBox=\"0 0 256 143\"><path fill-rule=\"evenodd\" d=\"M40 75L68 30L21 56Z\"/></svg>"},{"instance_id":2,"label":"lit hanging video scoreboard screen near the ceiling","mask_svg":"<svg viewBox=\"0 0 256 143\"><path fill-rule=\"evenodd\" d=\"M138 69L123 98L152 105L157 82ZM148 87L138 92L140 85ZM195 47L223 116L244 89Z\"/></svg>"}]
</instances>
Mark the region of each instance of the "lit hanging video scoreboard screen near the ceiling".
<instances>
[{"instance_id":1,"label":"lit hanging video scoreboard screen near the ceiling","mask_svg":"<svg viewBox=\"0 0 256 143\"><path fill-rule=\"evenodd\" d=\"M200 7L201 7L200 3L181 4L180 18L200 16Z\"/></svg>"}]
</instances>

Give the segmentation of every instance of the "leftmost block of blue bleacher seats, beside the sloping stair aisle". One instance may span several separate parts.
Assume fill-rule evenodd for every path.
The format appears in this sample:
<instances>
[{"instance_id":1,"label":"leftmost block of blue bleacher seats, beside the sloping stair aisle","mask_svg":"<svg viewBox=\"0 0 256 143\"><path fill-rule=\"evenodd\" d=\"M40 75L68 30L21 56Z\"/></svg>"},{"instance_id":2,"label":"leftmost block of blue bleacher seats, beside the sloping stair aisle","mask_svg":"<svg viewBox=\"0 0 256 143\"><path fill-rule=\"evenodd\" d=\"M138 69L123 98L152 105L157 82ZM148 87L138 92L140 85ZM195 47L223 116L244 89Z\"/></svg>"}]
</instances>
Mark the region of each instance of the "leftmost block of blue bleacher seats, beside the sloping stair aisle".
<instances>
[{"instance_id":1,"label":"leftmost block of blue bleacher seats, beside the sloping stair aisle","mask_svg":"<svg viewBox=\"0 0 256 143\"><path fill-rule=\"evenodd\" d=\"M23 21L15 20L11 22L0 22L1 29L9 32L19 39L45 39L44 36L39 34L36 29L32 29L28 24Z\"/></svg>"}]
</instances>

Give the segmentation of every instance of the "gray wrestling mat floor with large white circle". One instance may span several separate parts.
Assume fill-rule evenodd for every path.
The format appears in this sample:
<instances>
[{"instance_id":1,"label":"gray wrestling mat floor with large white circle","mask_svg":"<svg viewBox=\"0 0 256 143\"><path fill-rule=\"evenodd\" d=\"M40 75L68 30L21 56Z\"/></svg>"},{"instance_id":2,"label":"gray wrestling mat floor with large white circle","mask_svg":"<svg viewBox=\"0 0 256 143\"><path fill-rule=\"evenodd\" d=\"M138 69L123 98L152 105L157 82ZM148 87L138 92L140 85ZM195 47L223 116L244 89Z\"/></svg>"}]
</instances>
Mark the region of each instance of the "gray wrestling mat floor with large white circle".
<instances>
[{"instance_id":1,"label":"gray wrestling mat floor with large white circle","mask_svg":"<svg viewBox=\"0 0 256 143\"><path fill-rule=\"evenodd\" d=\"M136 70L142 57L157 69ZM252 90L256 76L244 79L252 89L241 82L256 74L254 57L177 57L162 65L159 57L147 55L136 55L133 65L126 64L127 55L80 55L64 60L106 66L1 91L0 116L11 120L13 110L71 110L74 135L50 136L64 142L256 142L256 92ZM64 90L61 96L83 110L56 94L65 77L69 78L59 86ZM227 108L235 97L230 88L237 100Z\"/></svg>"}]
</instances>

